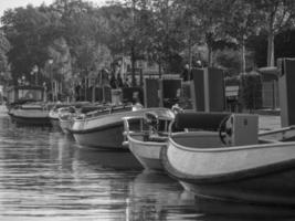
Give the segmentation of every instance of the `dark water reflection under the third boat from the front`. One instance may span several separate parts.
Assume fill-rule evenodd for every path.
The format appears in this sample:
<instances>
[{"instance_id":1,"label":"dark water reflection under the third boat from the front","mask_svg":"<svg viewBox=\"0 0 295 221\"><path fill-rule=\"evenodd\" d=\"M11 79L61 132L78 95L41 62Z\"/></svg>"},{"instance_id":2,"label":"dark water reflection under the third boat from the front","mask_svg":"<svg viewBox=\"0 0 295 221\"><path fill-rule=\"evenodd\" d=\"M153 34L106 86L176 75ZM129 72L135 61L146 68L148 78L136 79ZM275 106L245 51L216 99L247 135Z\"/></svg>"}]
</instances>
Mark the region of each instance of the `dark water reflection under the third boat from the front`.
<instances>
[{"instance_id":1,"label":"dark water reflection under the third boat from the front","mask_svg":"<svg viewBox=\"0 0 295 221\"><path fill-rule=\"evenodd\" d=\"M101 150L97 148L78 148L77 159L95 165L96 169L143 170L143 166L129 151Z\"/></svg>"}]
</instances>

